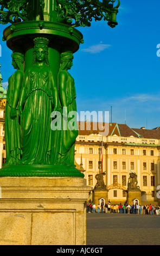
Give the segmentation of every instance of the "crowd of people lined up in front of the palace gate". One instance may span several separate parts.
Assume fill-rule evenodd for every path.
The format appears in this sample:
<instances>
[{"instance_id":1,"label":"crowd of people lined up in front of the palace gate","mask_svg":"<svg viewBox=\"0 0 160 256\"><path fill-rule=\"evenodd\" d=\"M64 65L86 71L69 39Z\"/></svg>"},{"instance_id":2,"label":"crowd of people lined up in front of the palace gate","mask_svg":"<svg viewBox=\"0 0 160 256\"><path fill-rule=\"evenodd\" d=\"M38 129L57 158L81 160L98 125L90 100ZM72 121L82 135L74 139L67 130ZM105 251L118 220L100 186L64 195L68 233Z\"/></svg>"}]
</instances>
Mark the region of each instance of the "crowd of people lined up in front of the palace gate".
<instances>
[{"instance_id":1,"label":"crowd of people lined up in front of the palace gate","mask_svg":"<svg viewBox=\"0 0 160 256\"><path fill-rule=\"evenodd\" d=\"M148 214L148 215L159 215L160 208L158 205L139 205L136 203L135 205L130 205L127 201L124 204L111 204L110 200L108 203L104 204L102 200L101 204L95 205L91 199L88 201L86 205L86 212L87 213L95 213L98 214L106 213L106 214Z\"/></svg>"}]
</instances>

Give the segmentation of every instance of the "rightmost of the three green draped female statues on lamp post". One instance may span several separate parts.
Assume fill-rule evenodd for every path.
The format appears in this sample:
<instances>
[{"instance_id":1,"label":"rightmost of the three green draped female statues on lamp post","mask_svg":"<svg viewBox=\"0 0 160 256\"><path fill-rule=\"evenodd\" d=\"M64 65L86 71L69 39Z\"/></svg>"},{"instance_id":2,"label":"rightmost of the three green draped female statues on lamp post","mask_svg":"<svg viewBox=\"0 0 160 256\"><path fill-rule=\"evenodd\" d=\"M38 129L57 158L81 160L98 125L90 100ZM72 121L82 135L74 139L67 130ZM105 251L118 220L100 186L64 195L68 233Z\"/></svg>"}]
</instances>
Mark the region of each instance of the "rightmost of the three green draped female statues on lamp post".
<instances>
[{"instance_id":1,"label":"rightmost of the three green draped female statues on lamp post","mask_svg":"<svg viewBox=\"0 0 160 256\"><path fill-rule=\"evenodd\" d=\"M68 72L72 65L73 53L61 53L60 70L57 77L61 120L57 118L57 131L53 131L52 138L54 141L52 162L57 165L74 166L74 144L78 136L78 125L76 123L76 92L74 79ZM73 117L74 122L72 123L71 120Z\"/></svg>"}]
</instances>

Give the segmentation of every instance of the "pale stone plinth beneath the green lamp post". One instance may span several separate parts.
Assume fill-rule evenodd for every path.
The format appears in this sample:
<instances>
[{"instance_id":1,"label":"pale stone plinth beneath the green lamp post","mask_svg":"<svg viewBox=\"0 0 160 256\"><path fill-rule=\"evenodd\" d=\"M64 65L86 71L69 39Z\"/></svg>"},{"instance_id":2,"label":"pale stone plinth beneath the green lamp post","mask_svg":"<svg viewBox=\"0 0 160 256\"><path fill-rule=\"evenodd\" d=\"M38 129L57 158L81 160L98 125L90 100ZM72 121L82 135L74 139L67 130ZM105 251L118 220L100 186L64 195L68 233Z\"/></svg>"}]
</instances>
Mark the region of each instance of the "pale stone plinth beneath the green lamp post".
<instances>
[{"instance_id":1,"label":"pale stone plinth beneath the green lamp post","mask_svg":"<svg viewBox=\"0 0 160 256\"><path fill-rule=\"evenodd\" d=\"M0 245L85 245L83 178L0 178Z\"/></svg>"}]
</instances>

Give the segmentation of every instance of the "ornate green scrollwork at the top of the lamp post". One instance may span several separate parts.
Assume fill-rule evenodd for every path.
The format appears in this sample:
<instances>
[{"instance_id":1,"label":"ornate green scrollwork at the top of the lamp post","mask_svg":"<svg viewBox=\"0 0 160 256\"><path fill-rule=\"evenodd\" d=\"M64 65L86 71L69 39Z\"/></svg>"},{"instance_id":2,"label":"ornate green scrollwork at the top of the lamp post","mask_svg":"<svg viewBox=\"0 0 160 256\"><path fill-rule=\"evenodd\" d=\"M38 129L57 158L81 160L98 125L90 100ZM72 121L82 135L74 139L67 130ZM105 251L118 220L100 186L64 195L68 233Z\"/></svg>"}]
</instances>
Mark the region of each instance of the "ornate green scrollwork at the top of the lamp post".
<instances>
[{"instance_id":1,"label":"ornate green scrollwork at the top of the lamp post","mask_svg":"<svg viewBox=\"0 0 160 256\"><path fill-rule=\"evenodd\" d=\"M39 5L40 21L44 19L44 8L50 2L49 0L36 0ZM114 3L118 2L116 7ZM53 0L55 5L54 10L50 8L49 16L56 17L59 23L65 23L71 27L91 26L91 21L100 21L104 19L108 21L110 27L115 27L118 23L116 15L120 5L119 0ZM36 20L37 14L34 13L35 5L33 0L0 0L0 23L7 24L8 22L16 23L21 21ZM32 14L33 13L33 14ZM36 18L35 18L36 17Z\"/></svg>"}]
</instances>

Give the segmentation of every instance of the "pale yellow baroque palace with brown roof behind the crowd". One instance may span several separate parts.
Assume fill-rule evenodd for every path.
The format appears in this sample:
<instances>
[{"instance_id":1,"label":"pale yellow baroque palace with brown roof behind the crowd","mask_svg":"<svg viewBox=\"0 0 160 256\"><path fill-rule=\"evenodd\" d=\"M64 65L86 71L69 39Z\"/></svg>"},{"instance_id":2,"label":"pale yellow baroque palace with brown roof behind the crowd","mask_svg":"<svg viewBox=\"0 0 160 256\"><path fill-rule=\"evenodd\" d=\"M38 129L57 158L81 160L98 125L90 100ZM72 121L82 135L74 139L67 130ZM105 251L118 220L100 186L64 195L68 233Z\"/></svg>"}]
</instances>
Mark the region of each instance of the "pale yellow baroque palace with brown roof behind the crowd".
<instances>
[{"instance_id":1,"label":"pale yellow baroque palace with brown roof behind the crowd","mask_svg":"<svg viewBox=\"0 0 160 256\"><path fill-rule=\"evenodd\" d=\"M108 199L112 203L125 202L127 182L130 173L134 172L142 191L142 203L159 204L160 127L131 129L126 124L110 123L108 135L102 137L99 130L93 130L93 123L90 130L86 127L87 122L82 125L85 129L81 130L81 123L75 143L75 164L84 172L87 185L94 188L97 183L95 175L103 171Z\"/></svg>"}]
</instances>

